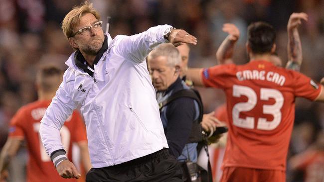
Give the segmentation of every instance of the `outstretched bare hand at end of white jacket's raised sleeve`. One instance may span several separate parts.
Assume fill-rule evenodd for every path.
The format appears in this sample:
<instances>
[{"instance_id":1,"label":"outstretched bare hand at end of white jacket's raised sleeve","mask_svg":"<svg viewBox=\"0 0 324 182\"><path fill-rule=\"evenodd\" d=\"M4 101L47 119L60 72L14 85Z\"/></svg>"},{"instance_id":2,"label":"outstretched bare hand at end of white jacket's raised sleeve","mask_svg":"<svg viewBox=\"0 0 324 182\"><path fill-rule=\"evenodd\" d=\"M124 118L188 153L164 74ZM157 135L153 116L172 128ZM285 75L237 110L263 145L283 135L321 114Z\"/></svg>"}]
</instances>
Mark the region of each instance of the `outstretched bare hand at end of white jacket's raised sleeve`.
<instances>
[{"instance_id":1,"label":"outstretched bare hand at end of white jacket's raised sleeve","mask_svg":"<svg viewBox=\"0 0 324 182\"><path fill-rule=\"evenodd\" d=\"M190 35L184 30L181 29L172 29L169 36L167 37L167 40L174 45L174 47L177 47L179 45L183 45L183 43L187 44L197 44L197 38Z\"/></svg>"}]
</instances>

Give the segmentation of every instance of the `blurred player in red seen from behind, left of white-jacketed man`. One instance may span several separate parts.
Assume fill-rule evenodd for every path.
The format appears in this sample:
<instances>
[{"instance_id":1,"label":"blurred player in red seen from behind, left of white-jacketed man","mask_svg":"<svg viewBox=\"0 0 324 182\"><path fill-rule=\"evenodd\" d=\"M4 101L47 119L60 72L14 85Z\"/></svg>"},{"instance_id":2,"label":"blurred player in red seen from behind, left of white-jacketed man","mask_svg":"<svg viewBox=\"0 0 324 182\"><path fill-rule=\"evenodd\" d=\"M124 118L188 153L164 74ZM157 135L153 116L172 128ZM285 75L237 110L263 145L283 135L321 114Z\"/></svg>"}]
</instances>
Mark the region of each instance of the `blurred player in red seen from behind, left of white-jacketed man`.
<instances>
[{"instance_id":1,"label":"blurred player in red seen from behind, left of white-jacketed man","mask_svg":"<svg viewBox=\"0 0 324 182\"><path fill-rule=\"evenodd\" d=\"M62 82L62 78L63 71L54 66L43 67L37 73L38 100L22 106L10 121L8 140L0 156L0 181L5 179L6 168L10 160L25 141L29 152L27 182L76 182L75 179L63 179L59 176L39 137L40 120ZM66 120L60 133L63 146L68 151L69 160L72 160L72 143L76 143L80 148L84 169L90 170L85 126L77 111L74 111Z\"/></svg>"}]
</instances>

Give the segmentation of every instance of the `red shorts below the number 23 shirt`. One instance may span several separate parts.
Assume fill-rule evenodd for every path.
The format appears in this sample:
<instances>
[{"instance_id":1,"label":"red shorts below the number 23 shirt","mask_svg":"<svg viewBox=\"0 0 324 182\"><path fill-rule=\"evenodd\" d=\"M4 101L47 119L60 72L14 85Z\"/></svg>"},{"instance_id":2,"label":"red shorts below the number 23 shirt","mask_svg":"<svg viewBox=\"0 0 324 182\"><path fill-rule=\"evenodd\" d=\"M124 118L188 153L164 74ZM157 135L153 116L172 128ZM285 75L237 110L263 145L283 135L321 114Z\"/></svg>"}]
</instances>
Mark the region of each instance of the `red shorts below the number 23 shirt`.
<instances>
[{"instance_id":1,"label":"red shorts below the number 23 shirt","mask_svg":"<svg viewBox=\"0 0 324 182\"><path fill-rule=\"evenodd\" d=\"M220 182L286 182L286 172L225 167Z\"/></svg>"}]
</instances>

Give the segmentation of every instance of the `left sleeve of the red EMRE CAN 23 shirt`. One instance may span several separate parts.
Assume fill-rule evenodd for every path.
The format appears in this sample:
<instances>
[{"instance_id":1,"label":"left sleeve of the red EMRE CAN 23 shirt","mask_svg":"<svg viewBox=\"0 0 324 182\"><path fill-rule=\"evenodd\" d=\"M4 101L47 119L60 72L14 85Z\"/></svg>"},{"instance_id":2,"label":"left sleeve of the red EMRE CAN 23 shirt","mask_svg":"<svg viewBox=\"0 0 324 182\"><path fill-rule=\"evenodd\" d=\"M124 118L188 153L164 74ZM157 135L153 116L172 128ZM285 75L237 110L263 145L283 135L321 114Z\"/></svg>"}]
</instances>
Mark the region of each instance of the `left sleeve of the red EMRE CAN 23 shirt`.
<instances>
[{"instance_id":1,"label":"left sleeve of the red EMRE CAN 23 shirt","mask_svg":"<svg viewBox=\"0 0 324 182\"><path fill-rule=\"evenodd\" d=\"M234 73L233 69L233 64L205 68L201 72L202 83L205 87L225 88L225 80L228 80L228 76Z\"/></svg>"}]
</instances>

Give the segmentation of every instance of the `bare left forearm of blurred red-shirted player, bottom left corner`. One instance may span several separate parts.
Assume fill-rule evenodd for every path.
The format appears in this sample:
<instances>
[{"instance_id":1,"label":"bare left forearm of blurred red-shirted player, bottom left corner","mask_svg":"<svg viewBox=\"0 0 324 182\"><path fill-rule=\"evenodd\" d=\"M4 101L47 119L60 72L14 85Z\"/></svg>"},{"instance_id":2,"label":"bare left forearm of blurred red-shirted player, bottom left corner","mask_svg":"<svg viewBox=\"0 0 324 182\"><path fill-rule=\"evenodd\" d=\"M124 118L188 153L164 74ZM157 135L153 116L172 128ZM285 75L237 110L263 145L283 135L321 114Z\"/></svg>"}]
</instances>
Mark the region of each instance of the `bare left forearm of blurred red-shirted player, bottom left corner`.
<instances>
[{"instance_id":1,"label":"bare left forearm of blurred red-shirted player, bottom left corner","mask_svg":"<svg viewBox=\"0 0 324 182\"><path fill-rule=\"evenodd\" d=\"M0 155L0 181L6 178L6 169L11 159L16 155L23 139L10 137L4 144Z\"/></svg>"}]
</instances>

